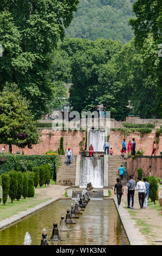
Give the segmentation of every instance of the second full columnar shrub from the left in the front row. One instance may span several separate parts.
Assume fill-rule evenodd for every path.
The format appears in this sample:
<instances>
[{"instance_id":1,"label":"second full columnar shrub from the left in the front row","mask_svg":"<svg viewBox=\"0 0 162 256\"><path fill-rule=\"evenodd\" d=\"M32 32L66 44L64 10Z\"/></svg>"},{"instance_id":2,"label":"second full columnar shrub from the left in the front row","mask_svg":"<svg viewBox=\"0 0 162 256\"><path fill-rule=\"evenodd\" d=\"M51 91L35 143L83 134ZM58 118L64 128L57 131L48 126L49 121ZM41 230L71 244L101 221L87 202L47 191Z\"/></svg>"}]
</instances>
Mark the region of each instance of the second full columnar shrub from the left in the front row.
<instances>
[{"instance_id":1,"label":"second full columnar shrub from the left in the front row","mask_svg":"<svg viewBox=\"0 0 162 256\"><path fill-rule=\"evenodd\" d=\"M17 195L17 172L15 170L11 170L9 172L10 176L10 188L9 188L9 197L11 198L11 203L13 203L14 199Z\"/></svg>"}]
</instances>

